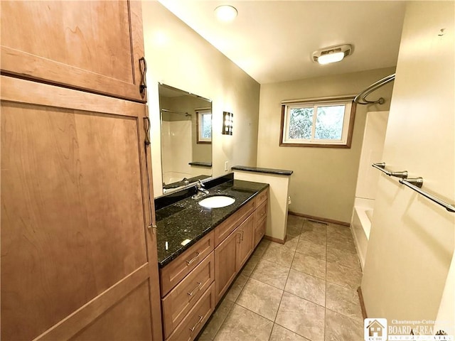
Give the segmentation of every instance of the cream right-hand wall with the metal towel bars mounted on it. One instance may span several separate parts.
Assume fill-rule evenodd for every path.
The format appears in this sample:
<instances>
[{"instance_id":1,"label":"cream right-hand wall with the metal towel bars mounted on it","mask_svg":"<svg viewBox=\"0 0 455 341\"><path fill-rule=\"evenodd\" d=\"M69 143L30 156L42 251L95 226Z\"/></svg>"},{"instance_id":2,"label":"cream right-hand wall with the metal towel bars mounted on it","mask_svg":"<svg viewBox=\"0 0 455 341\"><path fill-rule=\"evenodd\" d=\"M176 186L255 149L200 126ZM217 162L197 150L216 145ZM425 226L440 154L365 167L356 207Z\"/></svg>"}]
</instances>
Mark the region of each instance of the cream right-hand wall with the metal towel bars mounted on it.
<instances>
[{"instance_id":1,"label":"cream right-hand wall with the metal towel bars mounted on it","mask_svg":"<svg viewBox=\"0 0 455 341\"><path fill-rule=\"evenodd\" d=\"M422 176L422 190L451 203L454 13L453 1L407 5L383 153L390 170ZM443 36L441 28L446 28ZM362 281L368 316L435 320L454 254L454 233L454 213L381 175ZM453 311L454 301L450 305Z\"/></svg>"}]
</instances>

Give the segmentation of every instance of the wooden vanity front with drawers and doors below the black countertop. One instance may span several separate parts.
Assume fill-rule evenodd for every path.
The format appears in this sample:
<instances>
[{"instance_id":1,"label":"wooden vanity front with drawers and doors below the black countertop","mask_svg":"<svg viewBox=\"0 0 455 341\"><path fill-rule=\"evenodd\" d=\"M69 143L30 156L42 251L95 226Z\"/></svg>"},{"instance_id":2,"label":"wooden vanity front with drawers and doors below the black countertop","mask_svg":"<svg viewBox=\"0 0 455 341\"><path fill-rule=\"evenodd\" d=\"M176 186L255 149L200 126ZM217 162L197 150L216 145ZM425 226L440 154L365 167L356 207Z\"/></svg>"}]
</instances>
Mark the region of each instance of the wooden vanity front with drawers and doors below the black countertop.
<instances>
[{"instance_id":1,"label":"wooden vanity front with drawers and doors below the black countertop","mask_svg":"<svg viewBox=\"0 0 455 341\"><path fill-rule=\"evenodd\" d=\"M267 191L161 269L166 341L194 340L210 318L264 236Z\"/></svg>"}]
</instances>

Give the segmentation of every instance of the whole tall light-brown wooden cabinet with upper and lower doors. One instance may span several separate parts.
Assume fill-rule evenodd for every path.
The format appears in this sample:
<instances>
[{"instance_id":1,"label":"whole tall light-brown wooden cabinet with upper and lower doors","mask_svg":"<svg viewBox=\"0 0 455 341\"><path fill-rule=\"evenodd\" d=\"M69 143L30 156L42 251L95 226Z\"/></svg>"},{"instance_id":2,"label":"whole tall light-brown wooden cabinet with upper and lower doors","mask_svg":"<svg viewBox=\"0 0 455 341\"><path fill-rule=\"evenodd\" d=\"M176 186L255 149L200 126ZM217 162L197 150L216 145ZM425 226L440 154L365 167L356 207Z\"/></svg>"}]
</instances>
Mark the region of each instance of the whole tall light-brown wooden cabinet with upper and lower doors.
<instances>
[{"instance_id":1,"label":"whole tall light-brown wooden cabinet with upper and lower doors","mask_svg":"<svg viewBox=\"0 0 455 341\"><path fill-rule=\"evenodd\" d=\"M1 340L161 340L140 3L1 1L1 44Z\"/></svg>"}]
</instances>

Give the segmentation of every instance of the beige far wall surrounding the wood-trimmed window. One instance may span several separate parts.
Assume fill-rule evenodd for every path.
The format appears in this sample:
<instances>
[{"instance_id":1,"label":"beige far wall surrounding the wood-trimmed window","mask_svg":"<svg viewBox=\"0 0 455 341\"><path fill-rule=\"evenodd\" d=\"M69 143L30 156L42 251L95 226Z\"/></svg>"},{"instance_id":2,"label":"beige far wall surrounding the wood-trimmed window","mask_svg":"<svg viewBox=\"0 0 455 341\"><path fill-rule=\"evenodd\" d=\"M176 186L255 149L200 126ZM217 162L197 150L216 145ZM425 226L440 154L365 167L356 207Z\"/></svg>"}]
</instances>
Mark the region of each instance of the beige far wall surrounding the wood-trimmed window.
<instances>
[{"instance_id":1,"label":"beige far wall surrounding the wood-trimmed window","mask_svg":"<svg viewBox=\"0 0 455 341\"><path fill-rule=\"evenodd\" d=\"M390 67L261 85L257 166L294 171L289 189L292 199L290 211L341 222L350 221L365 115L389 109L393 83L368 97L382 96L385 104L357 106L353 141L349 149L280 147L282 100L357 94L393 72L395 68Z\"/></svg>"}]
</instances>

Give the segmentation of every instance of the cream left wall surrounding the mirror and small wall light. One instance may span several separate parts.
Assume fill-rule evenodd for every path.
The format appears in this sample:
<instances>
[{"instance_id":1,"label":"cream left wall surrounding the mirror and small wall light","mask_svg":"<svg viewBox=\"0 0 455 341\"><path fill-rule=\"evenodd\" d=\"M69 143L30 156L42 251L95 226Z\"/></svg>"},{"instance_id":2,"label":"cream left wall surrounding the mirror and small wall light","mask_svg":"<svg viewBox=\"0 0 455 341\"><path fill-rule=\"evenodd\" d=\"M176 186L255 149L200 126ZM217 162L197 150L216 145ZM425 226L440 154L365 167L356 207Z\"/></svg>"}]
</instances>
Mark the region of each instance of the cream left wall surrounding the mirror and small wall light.
<instances>
[{"instance_id":1,"label":"cream left wall surrounding the mirror and small wall light","mask_svg":"<svg viewBox=\"0 0 455 341\"><path fill-rule=\"evenodd\" d=\"M213 175L230 166L254 166L259 83L240 70L157 1L142 1L147 90L151 117L154 195L161 195L158 82L213 101ZM234 114L234 133L221 134L223 111Z\"/></svg>"}]
</instances>

